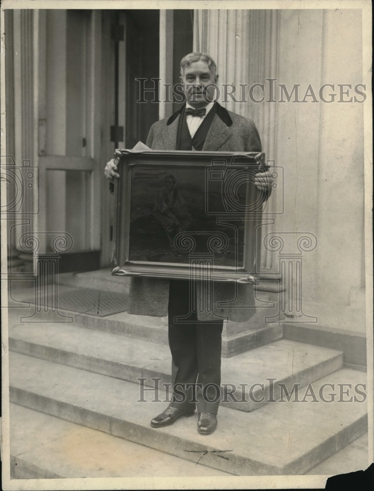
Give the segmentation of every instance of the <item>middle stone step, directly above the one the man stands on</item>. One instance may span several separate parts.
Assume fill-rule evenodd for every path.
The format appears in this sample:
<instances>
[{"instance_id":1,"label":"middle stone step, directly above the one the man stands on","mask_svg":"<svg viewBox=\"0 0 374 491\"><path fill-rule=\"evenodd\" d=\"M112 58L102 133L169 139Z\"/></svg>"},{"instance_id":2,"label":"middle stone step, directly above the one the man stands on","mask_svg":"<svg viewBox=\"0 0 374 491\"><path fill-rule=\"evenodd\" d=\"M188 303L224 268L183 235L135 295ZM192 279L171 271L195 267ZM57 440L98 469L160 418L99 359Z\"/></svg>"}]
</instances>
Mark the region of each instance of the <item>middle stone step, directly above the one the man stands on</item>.
<instances>
[{"instance_id":1,"label":"middle stone step, directly above the one the man stands on","mask_svg":"<svg viewBox=\"0 0 374 491\"><path fill-rule=\"evenodd\" d=\"M130 382L143 379L148 386L171 383L167 346L74 325L10 327L9 349ZM252 411L279 399L282 384L289 392L294 383L304 386L342 367L342 352L286 339L275 341L222 359L221 404Z\"/></svg>"}]
</instances>

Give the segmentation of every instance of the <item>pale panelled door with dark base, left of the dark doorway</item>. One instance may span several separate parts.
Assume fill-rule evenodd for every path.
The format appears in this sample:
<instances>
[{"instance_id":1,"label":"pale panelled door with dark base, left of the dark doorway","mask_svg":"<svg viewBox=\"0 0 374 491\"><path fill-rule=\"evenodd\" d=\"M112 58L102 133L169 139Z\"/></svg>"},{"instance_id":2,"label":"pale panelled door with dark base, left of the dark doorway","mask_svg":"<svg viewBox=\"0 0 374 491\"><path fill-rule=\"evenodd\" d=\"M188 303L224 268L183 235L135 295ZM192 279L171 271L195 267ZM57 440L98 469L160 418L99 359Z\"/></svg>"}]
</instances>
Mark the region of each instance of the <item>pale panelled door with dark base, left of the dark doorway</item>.
<instances>
[{"instance_id":1,"label":"pale panelled door with dark base, left of the dark doorway","mask_svg":"<svg viewBox=\"0 0 374 491\"><path fill-rule=\"evenodd\" d=\"M44 10L38 19L38 166L42 249L71 241L59 272L100 266L100 12Z\"/></svg>"}]
</instances>

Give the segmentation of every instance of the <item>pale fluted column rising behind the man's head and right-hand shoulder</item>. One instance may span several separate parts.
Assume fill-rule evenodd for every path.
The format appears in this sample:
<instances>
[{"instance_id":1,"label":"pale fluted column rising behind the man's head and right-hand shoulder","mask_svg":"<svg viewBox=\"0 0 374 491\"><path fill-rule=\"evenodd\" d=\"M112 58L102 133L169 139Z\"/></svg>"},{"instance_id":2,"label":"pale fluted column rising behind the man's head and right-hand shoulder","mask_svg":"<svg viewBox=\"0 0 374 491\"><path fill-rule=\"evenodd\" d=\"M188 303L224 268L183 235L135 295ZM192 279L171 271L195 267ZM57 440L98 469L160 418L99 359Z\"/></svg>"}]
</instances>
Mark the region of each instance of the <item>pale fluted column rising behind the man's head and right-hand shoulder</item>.
<instances>
[{"instance_id":1,"label":"pale fluted column rising behind the man's head and right-hand shoulder","mask_svg":"<svg viewBox=\"0 0 374 491\"><path fill-rule=\"evenodd\" d=\"M217 63L219 74L219 102L244 117L253 119L259 130L263 151L268 165L277 165L276 153L276 103L271 96L273 82L277 78L278 59L278 11L276 10L195 10L194 51L209 53ZM270 81L270 82L269 82ZM222 84L235 87L226 92ZM263 85L263 90L250 87ZM229 93L228 93L229 92ZM274 100L274 102L272 102ZM275 169L274 189L266 203L266 216L276 217L282 210L282 171ZM262 234L276 230L277 220L268 220ZM273 273L277 268L274 252L261 249L261 272Z\"/></svg>"}]
</instances>

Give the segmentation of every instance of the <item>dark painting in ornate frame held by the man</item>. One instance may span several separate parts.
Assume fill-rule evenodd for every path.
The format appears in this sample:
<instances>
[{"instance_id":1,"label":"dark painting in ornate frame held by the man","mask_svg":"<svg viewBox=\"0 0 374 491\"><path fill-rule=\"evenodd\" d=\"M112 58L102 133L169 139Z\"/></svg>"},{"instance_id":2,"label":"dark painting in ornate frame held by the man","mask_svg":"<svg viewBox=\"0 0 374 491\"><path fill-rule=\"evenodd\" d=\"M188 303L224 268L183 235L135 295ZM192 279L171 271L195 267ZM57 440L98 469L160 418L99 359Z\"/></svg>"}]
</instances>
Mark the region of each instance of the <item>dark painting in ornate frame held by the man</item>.
<instances>
[{"instance_id":1,"label":"dark painting in ornate frame held by the man","mask_svg":"<svg viewBox=\"0 0 374 491\"><path fill-rule=\"evenodd\" d=\"M112 274L256 282L263 153L115 154Z\"/></svg>"}]
</instances>

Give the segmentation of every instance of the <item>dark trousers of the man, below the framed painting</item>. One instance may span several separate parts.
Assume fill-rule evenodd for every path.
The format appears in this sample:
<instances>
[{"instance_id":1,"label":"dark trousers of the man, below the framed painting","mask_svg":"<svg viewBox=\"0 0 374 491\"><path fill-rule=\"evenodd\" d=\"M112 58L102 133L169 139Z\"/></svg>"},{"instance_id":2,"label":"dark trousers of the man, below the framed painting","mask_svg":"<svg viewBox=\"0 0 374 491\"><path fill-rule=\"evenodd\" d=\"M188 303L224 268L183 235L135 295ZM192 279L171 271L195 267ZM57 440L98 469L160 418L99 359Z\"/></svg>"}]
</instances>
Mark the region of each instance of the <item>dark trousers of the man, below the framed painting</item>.
<instances>
[{"instance_id":1,"label":"dark trousers of the man, below the framed painting","mask_svg":"<svg viewBox=\"0 0 374 491\"><path fill-rule=\"evenodd\" d=\"M169 346L174 365L171 406L217 414L223 320L198 320L190 308L189 280L170 280L169 285Z\"/></svg>"}]
</instances>

